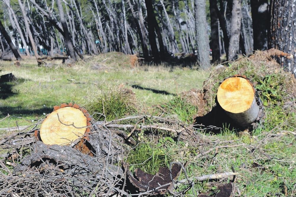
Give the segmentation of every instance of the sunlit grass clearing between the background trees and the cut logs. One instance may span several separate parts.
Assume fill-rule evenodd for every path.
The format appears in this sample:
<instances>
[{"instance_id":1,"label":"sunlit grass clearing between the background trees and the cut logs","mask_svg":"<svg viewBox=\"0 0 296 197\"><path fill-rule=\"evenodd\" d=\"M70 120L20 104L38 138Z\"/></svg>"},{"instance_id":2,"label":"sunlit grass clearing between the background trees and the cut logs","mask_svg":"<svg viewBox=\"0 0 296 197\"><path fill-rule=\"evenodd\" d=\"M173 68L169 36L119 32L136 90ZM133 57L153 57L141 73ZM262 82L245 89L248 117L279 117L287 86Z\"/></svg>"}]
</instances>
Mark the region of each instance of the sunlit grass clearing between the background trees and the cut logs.
<instances>
[{"instance_id":1,"label":"sunlit grass clearing between the background trees and the cut logs","mask_svg":"<svg viewBox=\"0 0 296 197\"><path fill-rule=\"evenodd\" d=\"M104 61L106 58L108 55L104 54L72 67L62 66L57 61L56 64L52 62L52 68L38 67L34 59L21 61L20 67L13 62L0 61L0 75L12 72L18 78L9 86L12 93L7 98L4 99L1 89L0 100L0 119L7 113L17 117L0 122L0 127L15 127L16 121L18 125L29 125L44 118L44 113L52 112L55 105L69 102L85 104L100 87L116 88L120 84L135 92L139 103L150 110L152 105L173 99L173 94L201 88L209 74L187 67L144 65L133 68L128 65L126 56L120 53L111 54ZM101 67L93 69L97 64Z\"/></svg>"}]
</instances>

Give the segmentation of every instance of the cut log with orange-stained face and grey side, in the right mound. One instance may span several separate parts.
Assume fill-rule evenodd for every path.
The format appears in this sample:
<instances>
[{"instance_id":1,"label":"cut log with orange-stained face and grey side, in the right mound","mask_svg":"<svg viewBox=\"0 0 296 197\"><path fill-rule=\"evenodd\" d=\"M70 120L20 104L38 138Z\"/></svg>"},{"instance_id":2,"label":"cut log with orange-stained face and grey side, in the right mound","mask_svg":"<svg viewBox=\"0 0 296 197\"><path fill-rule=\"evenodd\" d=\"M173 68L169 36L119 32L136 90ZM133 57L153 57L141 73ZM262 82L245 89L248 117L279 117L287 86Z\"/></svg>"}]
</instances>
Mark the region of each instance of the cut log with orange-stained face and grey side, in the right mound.
<instances>
[{"instance_id":1,"label":"cut log with orange-stained face and grey side, in the right mound","mask_svg":"<svg viewBox=\"0 0 296 197\"><path fill-rule=\"evenodd\" d=\"M217 100L231 119L245 127L257 120L260 109L253 85L245 77L229 77L218 88Z\"/></svg>"}]
</instances>

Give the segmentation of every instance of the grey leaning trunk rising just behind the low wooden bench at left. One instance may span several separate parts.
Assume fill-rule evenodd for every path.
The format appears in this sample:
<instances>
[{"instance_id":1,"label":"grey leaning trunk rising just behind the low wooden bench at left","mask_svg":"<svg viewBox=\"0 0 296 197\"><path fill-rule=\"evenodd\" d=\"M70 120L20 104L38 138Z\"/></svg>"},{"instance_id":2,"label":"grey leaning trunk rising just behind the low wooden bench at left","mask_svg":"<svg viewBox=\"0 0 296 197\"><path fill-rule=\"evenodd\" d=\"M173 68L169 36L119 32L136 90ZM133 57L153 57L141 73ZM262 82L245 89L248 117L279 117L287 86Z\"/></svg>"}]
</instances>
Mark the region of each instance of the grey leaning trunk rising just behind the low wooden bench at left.
<instances>
[{"instance_id":1,"label":"grey leaning trunk rising just behind the low wooden bench at left","mask_svg":"<svg viewBox=\"0 0 296 197\"><path fill-rule=\"evenodd\" d=\"M63 27L63 31L64 31L64 38L65 38L65 45L66 45L66 48L67 48L67 54L70 55L70 57L74 61L76 61L76 56L75 56L74 48L73 48L72 41L71 41L71 38L70 38L69 30L68 30L68 27L67 27L67 22L66 22L66 19L65 19L65 14L64 14L64 10L63 10L61 0L57 0L57 6L58 6L58 9L59 9L59 17L60 17L62 27Z\"/></svg>"}]
</instances>

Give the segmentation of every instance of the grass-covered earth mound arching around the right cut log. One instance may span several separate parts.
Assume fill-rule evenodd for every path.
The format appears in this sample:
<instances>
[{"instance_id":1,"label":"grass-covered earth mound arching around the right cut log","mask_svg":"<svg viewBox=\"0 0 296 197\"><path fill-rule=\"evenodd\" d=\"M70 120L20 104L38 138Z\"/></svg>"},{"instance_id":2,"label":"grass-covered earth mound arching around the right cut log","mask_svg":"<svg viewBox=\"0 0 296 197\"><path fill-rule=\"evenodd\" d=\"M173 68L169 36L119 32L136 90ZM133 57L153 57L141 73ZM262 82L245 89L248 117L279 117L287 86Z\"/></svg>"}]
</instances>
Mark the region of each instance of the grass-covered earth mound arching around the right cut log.
<instances>
[{"instance_id":1,"label":"grass-covered earth mound arching around the right cut log","mask_svg":"<svg viewBox=\"0 0 296 197\"><path fill-rule=\"evenodd\" d=\"M195 98L198 99L192 101L189 99L192 104L199 103L197 116L209 114L216 106L217 90L219 84L225 78L244 75L251 80L266 108L267 121L265 125L276 126L288 119L290 125L295 125L293 113L296 113L296 101L294 99L296 97L296 79L292 73L286 72L272 59L274 55L292 58L289 54L270 49L268 51L256 51L250 57L229 62L228 66L216 67L204 82L202 90L200 92L194 91ZM191 98L193 92L184 92L182 95ZM278 117L273 120L274 116Z\"/></svg>"}]
</instances>

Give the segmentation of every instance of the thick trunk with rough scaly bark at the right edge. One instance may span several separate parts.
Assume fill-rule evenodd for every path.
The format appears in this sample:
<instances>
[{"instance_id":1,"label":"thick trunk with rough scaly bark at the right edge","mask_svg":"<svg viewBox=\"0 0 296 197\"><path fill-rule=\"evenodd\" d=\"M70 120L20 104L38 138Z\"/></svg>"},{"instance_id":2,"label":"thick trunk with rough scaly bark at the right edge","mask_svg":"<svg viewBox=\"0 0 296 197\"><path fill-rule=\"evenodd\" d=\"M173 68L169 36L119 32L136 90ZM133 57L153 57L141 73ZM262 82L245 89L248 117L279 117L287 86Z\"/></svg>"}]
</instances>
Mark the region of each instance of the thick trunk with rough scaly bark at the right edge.
<instances>
[{"instance_id":1,"label":"thick trunk with rough scaly bark at the right edge","mask_svg":"<svg viewBox=\"0 0 296 197\"><path fill-rule=\"evenodd\" d=\"M271 26L268 48L279 49L296 56L296 6L293 0L271 1ZM276 57L277 61L296 77L296 58Z\"/></svg>"}]
</instances>

